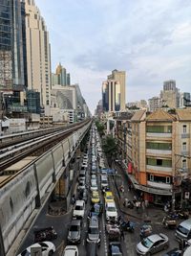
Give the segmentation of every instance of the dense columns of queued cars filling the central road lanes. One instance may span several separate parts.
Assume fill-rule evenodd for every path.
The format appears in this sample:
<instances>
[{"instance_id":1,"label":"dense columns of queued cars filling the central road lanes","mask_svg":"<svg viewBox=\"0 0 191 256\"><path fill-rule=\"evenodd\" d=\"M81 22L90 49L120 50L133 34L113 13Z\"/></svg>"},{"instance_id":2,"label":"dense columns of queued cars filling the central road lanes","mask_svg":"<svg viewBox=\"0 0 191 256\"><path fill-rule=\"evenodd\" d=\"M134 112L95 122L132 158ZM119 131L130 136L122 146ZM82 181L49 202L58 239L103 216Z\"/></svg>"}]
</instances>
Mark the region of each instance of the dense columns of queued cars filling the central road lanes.
<instances>
[{"instance_id":1,"label":"dense columns of queued cars filling the central road lanes","mask_svg":"<svg viewBox=\"0 0 191 256\"><path fill-rule=\"evenodd\" d=\"M91 129L87 146L79 170L76 193L72 197L73 217L63 256L86 253L124 255L120 243L123 235L121 233L128 223L122 223L120 226L118 224L120 220L117 205L108 178L108 173L112 173L112 170L106 166L95 126ZM87 223L87 230L82 238L84 222ZM85 246L85 252L81 250L81 244ZM72 254L72 251L75 254Z\"/></svg>"}]
</instances>

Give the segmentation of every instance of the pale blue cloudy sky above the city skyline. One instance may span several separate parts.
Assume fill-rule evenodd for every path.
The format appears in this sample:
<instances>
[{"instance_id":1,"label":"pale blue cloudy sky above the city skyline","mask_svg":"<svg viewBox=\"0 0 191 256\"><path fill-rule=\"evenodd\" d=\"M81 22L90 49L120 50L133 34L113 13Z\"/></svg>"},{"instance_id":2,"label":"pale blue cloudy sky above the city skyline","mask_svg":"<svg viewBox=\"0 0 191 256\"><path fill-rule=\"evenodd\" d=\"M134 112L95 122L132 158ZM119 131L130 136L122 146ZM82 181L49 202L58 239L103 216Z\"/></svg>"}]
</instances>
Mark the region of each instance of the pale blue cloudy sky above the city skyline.
<instances>
[{"instance_id":1,"label":"pale blue cloudy sky above the city skyline","mask_svg":"<svg viewBox=\"0 0 191 256\"><path fill-rule=\"evenodd\" d=\"M126 71L126 102L159 96L163 81L191 92L190 0L35 0L61 64L92 113L102 81Z\"/></svg>"}]
</instances>

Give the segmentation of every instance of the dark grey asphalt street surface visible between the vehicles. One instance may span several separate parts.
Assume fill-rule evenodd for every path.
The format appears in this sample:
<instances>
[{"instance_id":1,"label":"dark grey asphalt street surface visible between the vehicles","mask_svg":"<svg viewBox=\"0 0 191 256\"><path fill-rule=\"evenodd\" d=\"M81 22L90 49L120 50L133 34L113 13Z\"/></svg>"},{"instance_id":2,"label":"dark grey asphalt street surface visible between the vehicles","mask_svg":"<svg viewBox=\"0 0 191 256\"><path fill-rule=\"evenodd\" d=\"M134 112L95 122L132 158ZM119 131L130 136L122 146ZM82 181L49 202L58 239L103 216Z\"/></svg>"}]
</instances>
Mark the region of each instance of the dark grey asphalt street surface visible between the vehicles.
<instances>
[{"instance_id":1,"label":"dark grey asphalt street surface visible between the vehicles","mask_svg":"<svg viewBox=\"0 0 191 256\"><path fill-rule=\"evenodd\" d=\"M91 153L89 151L89 165L86 172L86 186L90 189L90 175L91 175ZM80 161L81 162L81 161ZM107 161L105 159L105 164L107 165ZM118 216L120 215L123 220L130 220L134 222L135 231L134 232L124 232L124 239L120 240L122 253L124 256L134 256L137 255L136 246L140 241L139 232L140 226L143 224L145 219L151 221L151 225L153 227L153 234L163 233L166 234L170 241L170 246L168 248L178 247L179 244L175 241L175 230L164 228L161 225L161 221L164 216L164 211L162 209L156 208L154 206L148 206L145 210L142 210L138 213L136 208L129 209L124 207L123 202L125 198L129 200L133 200L136 192L134 190L129 191L128 185L128 178L124 174L122 167L118 163L113 163L113 168L117 170L117 175L108 175L109 176L109 187L110 190L115 195L115 201L117 204L117 213ZM75 163L74 169L77 171L79 167L78 163ZM97 163L98 167L98 163ZM78 174L78 173L76 173ZM101 198L101 202L104 202L103 193L101 192L101 185L100 185L100 173L96 173L97 179L97 187L99 191L99 197ZM123 185L124 192L119 191L120 185ZM75 198L77 198L77 183L75 184ZM88 201L86 203L85 208L85 216L82 220L82 228L81 228L81 243L77 244L79 255L89 255L88 252L88 244L86 242L87 239L87 231L88 231L88 214L91 208L91 193L88 193ZM104 205L104 203L103 203ZM28 236L26 237L24 243L22 244L20 251L25 249L27 246L33 244L33 230L36 228L42 228L47 226L53 226L57 232L57 239L53 240L53 244L55 244L56 252L53 255L60 256L62 255L64 247L67 245L67 235L70 223L72 221L73 216L73 208L74 206L71 204L70 210L62 215L62 216L51 216L48 214L48 205L46 204L40 215L38 216L37 220L35 221L34 225L32 226L32 230L30 230ZM97 246L97 255L99 256L107 256L108 247L109 247L109 240L108 235L106 233L106 216L105 216L105 209L103 207L103 214L99 218L99 229L100 229L100 236L101 236L101 243L100 246ZM162 256L164 251L155 254L156 256Z\"/></svg>"}]
</instances>

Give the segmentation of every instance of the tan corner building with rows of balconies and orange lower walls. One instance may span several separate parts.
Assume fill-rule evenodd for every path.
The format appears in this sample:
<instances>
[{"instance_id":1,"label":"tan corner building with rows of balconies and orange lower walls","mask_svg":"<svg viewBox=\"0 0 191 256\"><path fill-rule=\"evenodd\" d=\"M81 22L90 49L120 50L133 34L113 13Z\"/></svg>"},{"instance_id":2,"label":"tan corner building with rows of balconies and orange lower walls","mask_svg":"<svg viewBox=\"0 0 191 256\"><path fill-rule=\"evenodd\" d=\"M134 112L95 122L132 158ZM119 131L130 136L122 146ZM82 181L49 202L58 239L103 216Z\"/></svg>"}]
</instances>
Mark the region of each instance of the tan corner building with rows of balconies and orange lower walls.
<instances>
[{"instance_id":1,"label":"tan corner building with rows of balconies and orange lower walls","mask_svg":"<svg viewBox=\"0 0 191 256\"><path fill-rule=\"evenodd\" d=\"M136 190L156 204L180 200L180 183L191 178L191 109L170 114L140 110L125 124L118 124L118 141L124 143L126 127L126 168ZM124 145L120 145L124 149ZM125 154L124 154L125 155Z\"/></svg>"}]
</instances>

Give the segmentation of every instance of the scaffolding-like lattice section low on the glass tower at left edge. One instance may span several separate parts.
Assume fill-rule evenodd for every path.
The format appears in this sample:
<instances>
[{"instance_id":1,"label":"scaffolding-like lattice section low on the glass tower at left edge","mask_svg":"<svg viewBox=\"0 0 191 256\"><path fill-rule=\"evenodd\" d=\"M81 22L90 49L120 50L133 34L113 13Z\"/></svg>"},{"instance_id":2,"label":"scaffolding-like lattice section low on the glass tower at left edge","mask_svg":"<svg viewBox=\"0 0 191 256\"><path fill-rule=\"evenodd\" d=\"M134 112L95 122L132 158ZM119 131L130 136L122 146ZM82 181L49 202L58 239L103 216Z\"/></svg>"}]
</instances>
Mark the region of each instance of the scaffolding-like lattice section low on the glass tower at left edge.
<instances>
[{"instance_id":1,"label":"scaffolding-like lattice section low on the glass tower at left edge","mask_svg":"<svg viewBox=\"0 0 191 256\"><path fill-rule=\"evenodd\" d=\"M0 50L0 90L12 89L12 53L11 50Z\"/></svg>"}]
</instances>

